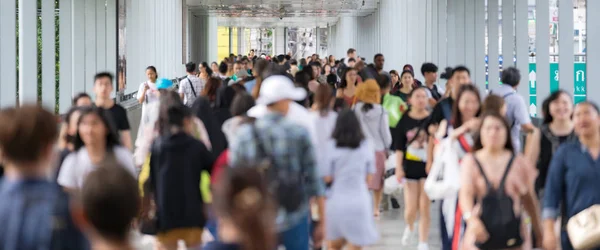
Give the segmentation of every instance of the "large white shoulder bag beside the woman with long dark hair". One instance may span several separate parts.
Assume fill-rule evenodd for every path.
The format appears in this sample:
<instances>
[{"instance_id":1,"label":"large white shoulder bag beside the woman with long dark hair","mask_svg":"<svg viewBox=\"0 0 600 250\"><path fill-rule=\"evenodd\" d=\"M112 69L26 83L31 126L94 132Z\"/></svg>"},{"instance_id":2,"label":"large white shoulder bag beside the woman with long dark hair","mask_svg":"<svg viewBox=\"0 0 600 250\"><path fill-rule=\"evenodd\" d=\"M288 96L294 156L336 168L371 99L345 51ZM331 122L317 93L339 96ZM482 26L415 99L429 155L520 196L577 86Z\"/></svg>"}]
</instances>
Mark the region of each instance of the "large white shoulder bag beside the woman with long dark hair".
<instances>
[{"instance_id":1,"label":"large white shoulder bag beside the woman with long dark hair","mask_svg":"<svg viewBox=\"0 0 600 250\"><path fill-rule=\"evenodd\" d=\"M452 144L453 140L450 138L442 140L434 154L431 171L424 186L430 200L455 197L460 189L458 153Z\"/></svg>"}]
</instances>

